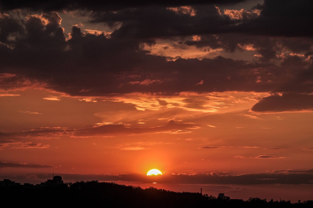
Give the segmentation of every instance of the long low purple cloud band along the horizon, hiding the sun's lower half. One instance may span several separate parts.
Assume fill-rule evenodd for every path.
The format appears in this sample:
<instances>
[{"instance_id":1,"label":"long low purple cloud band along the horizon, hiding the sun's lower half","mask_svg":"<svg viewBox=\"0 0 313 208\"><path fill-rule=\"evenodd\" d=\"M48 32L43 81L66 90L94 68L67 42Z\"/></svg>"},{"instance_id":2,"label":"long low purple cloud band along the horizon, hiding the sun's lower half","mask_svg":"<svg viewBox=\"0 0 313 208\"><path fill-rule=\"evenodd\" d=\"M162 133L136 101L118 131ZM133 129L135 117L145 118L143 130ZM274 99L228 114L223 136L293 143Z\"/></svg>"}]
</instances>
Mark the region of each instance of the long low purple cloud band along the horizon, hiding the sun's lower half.
<instances>
[{"instance_id":1,"label":"long low purple cloud band along the horizon, hiding the sun's lower half","mask_svg":"<svg viewBox=\"0 0 313 208\"><path fill-rule=\"evenodd\" d=\"M173 174L165 172L163 175L158 176L146 176L142 174L120 174L120 175L100 175L100 174L70 174L60 173L64 182L73 181L137 181L137 182L157 182L168 184L240 184L240 185L253 185L253 184L311 184L313 175L310 173L256 173L256 174L243 174L238 176L220 176L216 173L196 173L196 174ZM3 176L0 176L3 177ZM25 180L28 176L18 176L20 180ZM18 177L12 178L18 180ZM36 182L40 183L40 179L45 180L48 175L33 176L36 178ZM51 178L51 176L50 176ZM240 189L240 188L236 188Z\"/></svg>"}]
</instances>

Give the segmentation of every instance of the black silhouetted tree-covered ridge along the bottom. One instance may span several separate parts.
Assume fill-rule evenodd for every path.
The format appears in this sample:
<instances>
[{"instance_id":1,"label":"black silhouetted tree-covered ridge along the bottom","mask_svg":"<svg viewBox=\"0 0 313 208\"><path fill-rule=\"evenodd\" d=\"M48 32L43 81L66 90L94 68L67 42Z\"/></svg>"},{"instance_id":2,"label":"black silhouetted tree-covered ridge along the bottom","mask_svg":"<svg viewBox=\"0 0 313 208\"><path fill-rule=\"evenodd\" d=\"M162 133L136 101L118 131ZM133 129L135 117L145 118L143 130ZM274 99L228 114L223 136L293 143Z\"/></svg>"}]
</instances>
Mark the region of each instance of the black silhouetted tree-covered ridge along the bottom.
<instances>
[{"instance_id":1,"label":"black silhouetted tree-covered ridge along the bottom","mask_svg":"<svg viewBox=\"0 0 313 208\"><path fill-rule=\"evenodd\" d=\"M59 186L0 186L2 200L9 205L39 207L312 207L313 201L267 201L249 198L247 201L220 200L215 196L192 192L174 192L154 187L142 189L98 181L64 183Z\"/></svg>"}]
</instances>

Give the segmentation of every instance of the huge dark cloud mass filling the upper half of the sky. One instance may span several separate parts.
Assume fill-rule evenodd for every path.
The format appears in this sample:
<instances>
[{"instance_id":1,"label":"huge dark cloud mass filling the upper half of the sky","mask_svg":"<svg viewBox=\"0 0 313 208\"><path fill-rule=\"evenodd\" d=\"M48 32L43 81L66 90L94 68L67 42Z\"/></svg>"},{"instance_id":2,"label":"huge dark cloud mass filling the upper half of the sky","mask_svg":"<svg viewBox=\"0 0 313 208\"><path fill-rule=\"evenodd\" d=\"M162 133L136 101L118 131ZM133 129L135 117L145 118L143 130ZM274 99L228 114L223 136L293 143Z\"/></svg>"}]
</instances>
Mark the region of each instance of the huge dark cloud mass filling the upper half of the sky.
<instances>
[{"instance_id":1,"label":"huge dark cloud mass filling the upper half of the sky","mask_svg":"<svg viewBox=\"0 0 313 208\"><path fill-rule=\"evenodd\" d=\"M38 14L23 16L26 10L19 15L14 13L17 10L1 12L0 87L4 91L44 88L82 97L131 92L279 92L283 95L265 97L251 110L310 110L313 43L310 27L305 27L312 21L309 2L266 0L263 5L241 12L242 17L237 19L219 14L214 6L217 2L193 2L192 8L187 8L179 7L186 2L153 6L133 2L118 6L83 1L1 1L3 10L29 8L38 10ZM227 7L231 2L221 3ZM61 13L56 11L83 8L93 11L91 22L121 22L121 27L110 38L105 34L85 34L75 26L70 35L64 34ZM254 13L259 10L259 15ZM191 41L192 35L201 39ZM144 44L154 46L157 38L181 38L178 47L195 45L225 52L252 50L257 58L253 62L222 56L168 61L168 57L144 50ZM202 105L200 100L185 102Z\"/></svg>"}]
</instances>

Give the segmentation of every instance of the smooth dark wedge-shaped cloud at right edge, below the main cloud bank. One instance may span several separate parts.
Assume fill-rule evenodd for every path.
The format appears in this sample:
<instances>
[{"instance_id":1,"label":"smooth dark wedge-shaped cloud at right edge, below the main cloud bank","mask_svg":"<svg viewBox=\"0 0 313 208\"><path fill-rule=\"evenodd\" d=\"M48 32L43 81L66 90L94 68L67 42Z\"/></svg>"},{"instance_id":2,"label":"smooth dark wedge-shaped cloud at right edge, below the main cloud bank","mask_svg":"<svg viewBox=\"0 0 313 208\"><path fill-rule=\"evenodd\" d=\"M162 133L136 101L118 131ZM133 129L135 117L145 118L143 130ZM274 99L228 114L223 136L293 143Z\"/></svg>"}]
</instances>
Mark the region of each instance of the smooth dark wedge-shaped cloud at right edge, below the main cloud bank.
<instances>
[{"instance_id":1,"label":"smooth dark wedge-shaped cloud at right edge, below the main cloud bank","mask_svg":"<svg viewBox=\"0 0 313 208\"><path fill-rule=\"evenodd\" d=\"M311 111L312 109L313 95L294 93L264 97L251 108L255 112Z\"/></svg>"}]
</instances>

